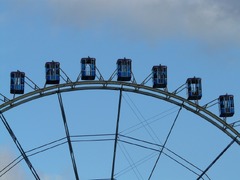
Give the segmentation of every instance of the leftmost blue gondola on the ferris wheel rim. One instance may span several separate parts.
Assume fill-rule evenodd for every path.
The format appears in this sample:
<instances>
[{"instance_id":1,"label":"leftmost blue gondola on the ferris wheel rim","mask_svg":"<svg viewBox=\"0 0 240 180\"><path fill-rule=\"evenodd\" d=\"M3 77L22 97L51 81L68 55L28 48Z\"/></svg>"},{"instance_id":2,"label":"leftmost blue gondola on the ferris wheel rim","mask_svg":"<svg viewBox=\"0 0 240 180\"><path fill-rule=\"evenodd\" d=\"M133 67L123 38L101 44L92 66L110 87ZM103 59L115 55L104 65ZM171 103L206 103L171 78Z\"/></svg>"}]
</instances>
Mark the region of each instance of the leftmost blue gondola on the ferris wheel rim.
<instances>
[{"instance_id":1,"label":"leftmost blue gondola on the ferris wheel rim","mask_svg":"<svg viewBox=\"0 0 240 180\"><path fill-rule=\"evenodd\" d=\"M10 77L10 93L24 94L25 73L20 71L11 72Z\"/></svg>"}]
</instances>

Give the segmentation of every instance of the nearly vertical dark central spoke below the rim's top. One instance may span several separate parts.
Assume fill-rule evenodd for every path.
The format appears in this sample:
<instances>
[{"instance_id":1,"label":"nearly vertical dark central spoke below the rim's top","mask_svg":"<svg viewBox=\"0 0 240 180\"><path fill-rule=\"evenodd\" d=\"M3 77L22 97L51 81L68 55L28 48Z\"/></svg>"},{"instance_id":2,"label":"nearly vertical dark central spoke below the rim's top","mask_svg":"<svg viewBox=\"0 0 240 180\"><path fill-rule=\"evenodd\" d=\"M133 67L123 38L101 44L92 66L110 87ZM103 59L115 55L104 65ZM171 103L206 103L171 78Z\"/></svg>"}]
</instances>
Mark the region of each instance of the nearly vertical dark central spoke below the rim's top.
<instances>
[{"instance_id":1,"label":"nearly vertical dark central spoke below the rim's top","mask_svg":"<svg viewBox=\"0 0 240 180\"><path fill-rule=\"evenodd\" d=\"M114 141L111 180L114 180L115 160L116 160L116 154L117 154L118 129L119 129L120 114L121 114L121 104L122 104L122 88L120 89L119 102L118 102L118 115L117 115L117 125L116 125L115 141Z\"/></svg>"}]
</instances>

